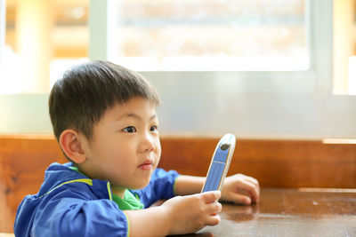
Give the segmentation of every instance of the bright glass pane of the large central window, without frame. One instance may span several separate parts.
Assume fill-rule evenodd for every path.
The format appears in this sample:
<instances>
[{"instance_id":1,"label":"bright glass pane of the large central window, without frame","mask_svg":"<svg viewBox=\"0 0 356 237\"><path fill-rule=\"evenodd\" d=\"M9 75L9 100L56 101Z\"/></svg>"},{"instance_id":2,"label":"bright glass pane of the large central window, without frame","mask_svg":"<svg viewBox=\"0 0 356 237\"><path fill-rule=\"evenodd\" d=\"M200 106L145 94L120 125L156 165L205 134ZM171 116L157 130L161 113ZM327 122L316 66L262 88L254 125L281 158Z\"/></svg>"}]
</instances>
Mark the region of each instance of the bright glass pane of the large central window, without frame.
<instances>
[{"instance_id":1,"label":"bright glass pane of the large central window, without frame","mask_svg":"<svg viewBox=\"0 0 356 237\"><path fill-rule=\"evenodd\" d=\"M305 0L116 1L115 60L139 71L309 68ZM112 10L110 10L112 11Z\"/></svg>"}]
</instances>

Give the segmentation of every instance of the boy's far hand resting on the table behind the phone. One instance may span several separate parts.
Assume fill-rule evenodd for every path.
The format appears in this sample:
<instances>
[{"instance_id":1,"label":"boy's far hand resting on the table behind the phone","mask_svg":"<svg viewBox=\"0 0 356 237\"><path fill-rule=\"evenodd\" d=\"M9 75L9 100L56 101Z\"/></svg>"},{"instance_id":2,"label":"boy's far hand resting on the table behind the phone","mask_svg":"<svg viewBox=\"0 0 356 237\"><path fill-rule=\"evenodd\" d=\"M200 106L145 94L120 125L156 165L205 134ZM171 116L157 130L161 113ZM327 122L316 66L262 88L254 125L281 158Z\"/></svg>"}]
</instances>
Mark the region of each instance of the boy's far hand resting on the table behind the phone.
<instances>
[{"instance_id":1,"label":"boy's far hand resting on the table behind the phone","mask_svg":"<svg viewBox=\"0 0 356 237\"><path fill-rule=\"evenodd\" d=\"M224 180L222 200L249 205L260 199L260 185L255 178L236 174Z\"/></svg>"}]
</instances>

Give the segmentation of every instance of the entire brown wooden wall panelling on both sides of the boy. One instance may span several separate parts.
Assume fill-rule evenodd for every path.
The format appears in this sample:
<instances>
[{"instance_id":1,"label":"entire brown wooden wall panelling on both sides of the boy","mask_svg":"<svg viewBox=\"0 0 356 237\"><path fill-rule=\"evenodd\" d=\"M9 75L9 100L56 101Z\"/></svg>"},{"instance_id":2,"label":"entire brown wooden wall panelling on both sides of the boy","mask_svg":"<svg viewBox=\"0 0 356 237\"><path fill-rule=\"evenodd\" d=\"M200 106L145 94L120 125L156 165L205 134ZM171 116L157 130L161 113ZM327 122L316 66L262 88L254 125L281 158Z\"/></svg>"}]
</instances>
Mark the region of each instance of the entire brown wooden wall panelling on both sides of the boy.
<instances>
[{"instance_id":1,"label":"entire brown wooden wall panelling on both sides of the boy","mask_svg":"<svg viewBox=\"0 0 356 237\"><path fill-rule=\"evenodd\" d=\"M161 138L160 167L206 176L218 138ZM67 162L53 137L0 136L0 233L12 233L16 209L36 194L51 162ZM263 187L356 188L356 145L308 140L238 139L229 174Z\"/></svg>"}]
</instances>

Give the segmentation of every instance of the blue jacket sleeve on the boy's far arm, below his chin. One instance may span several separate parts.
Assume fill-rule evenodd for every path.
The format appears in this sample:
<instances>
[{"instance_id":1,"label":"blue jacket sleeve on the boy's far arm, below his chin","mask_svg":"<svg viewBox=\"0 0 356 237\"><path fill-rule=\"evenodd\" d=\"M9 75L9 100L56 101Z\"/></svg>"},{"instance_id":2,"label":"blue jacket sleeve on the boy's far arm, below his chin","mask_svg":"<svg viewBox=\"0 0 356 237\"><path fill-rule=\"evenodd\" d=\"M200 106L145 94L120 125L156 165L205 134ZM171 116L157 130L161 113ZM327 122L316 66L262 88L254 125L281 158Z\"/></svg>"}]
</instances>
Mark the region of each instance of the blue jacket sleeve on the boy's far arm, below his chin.
<instances>
[{"instance_id":1,"label":"blue jacket sleeve on the boy's far arm, below his chin","mask_svg":"<svg viewBox=\"0 0 356 237\"><path fill-rule=\"evenodd\" d=\"M155 201L174 197L174 184L178 176L175 170L166 171L158 168L152 173L148 186L132 192L137 194L145 208L148 208Z\"/></svg>"}]
</instances>

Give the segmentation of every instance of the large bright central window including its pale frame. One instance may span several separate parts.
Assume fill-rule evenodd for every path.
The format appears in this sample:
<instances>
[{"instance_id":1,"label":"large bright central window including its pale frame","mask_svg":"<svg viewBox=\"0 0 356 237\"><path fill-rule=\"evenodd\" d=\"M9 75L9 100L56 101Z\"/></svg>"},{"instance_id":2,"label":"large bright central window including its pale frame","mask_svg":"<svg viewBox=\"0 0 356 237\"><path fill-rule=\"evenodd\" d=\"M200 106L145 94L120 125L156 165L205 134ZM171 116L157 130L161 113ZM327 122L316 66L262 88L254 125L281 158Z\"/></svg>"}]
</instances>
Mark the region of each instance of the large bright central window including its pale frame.
<instances>
[{"instance_id":1,"label":"large bright central window including its pale frame","mask_svg":"<svg viewBox=\"0 0 356 237\"><path fill-rule=\"evenodd\" d=\"M103 2L92 0L91 7L96 11L91 14L91 38L95 40L90 44L92 52L90 58L109 59L125 67L141 71L153 83L161 86L162 90L174 83L178 89L194 88L199 85L200 93L211 94L213 92L218 96L237 93L331 93L332 28L324 27L332 24L332 4L330 5L329 1L210 0L179 1L178 3L166 0L159 2L163 3L163 9L166 9L166 11L161 11L161 8L155 5L157 1L107 1L105 2L107 5L99 9L98 5L102 5ZM246 17L229 13L228 16L231 17L224 19L223 13L208 11L211 8L217 8L214 4L219 5L224 11L232 11L229 8L230 5L221 4L225 2L246 6L252 2L255 4L251 4L251 10L247 11ZM145 7L133 10L132 14L135 19L123 13L135 9L134 5L139 3ZM262 9L265 10L260 10L256 7L256 3L260 6L270 4L273 8L264 7ZM164 16L171 15L171 13L166 13L170 10L168 6L171 5L176 6L173 12L181 12L179 17L174 15L166 21L162 20ZM218 14L217 22L214 23L212 20L214 18L209 18L207 13L205 17L194 21L194 12L198 12L197 8L202 8L203 12ZM283 15L281 9L285 8L288 11ZM320 8L324 10L318 11ZM243 14L241 10L234 11ZM280 14L278 17L273 17L269 11L273 14ZM254 19L261 18L263 20L254 21ZM105 28L100 22L103 19L106 20ZM224 40L227 41L230 37L221 37L223 43L208 43L206 40L208 43L206 53L206 51L199 51L199 47L196 46L199 38L195 42L190 42L190 35L198 32L199 29L202 30L199 36L201 35L203 39L212 36L209 30L206 30L208 28L216 29L214 32L220 32L219 30L227 32L226 28L233 28L231 22L234 20L239 23L237 28L244 28L246 32L248 32L247 28L253 28L251 32L258 32L257 36L251 36L245 40L248 47L225 43ZM148 28L150 28L150 33ZM122 29L125 34L119 29ZM176 37L181 37L182 41L174 41L174 31L179 33ZM184 31L190 34L182 34ZM270 31L275 32L279 37L274 37ZM152 32L156 32L156 35ZM234 34L239 35L239 31L236 33L231 30L230 34L231 37ZM155 38L155 36L159 37ZM197 38L197 35L194 36ZM241 38L242 36L248 36L248 34L241 33ZM287 46L279 47L283 44L281 43L282 36L285 36L283 42L287 42L285 44ZM271 39L266 42L273 47L261 46L262 37ZM217 38L218 36L214 37L214 39ZM136 42L141 42L141 46L137 46ZM179 42L183 42L182 47L169 46L169 43L174 45ZM146 44L147 46L144 46ZM234 54L230 52L231 55L228 55L227 51L222 50L223 47L228 47L228 44L239 50L237 49ZM254 44L257 50L253 50L251 45ZM166 50L166 46L173 50ZM190 54L188 54L189 48L192 51ZM273 65L273 67L266 67L266 65ZM324 79L317 80L320 77ZM194 93L194 91L191 92Z\"/></svg>"}]
</instances>

